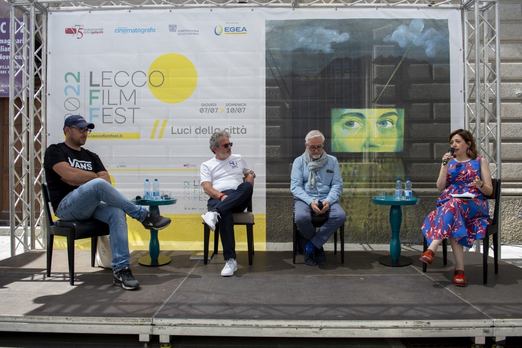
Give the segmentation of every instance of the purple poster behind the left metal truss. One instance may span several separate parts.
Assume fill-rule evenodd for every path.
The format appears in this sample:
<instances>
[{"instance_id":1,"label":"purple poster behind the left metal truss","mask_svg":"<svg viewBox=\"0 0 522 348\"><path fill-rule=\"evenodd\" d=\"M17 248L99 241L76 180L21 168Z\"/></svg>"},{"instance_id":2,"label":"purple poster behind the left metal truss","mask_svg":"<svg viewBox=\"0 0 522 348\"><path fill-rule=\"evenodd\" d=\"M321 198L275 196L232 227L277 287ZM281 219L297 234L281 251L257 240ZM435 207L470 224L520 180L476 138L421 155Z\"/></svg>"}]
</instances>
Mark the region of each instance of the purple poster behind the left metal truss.
<instances>
[{"instance_id":1,"label":"purple poster behind the left metal truss","mask_svg":"<svg viewBox=\"0 0 522 348\"><path fill-rule=\"evenodd\" d=\"M20 19L21 21L21 19ZM11 33L10 33L10 18L0 18L0 97L9 97L9 65L10 65L10 44L11 44ZM15 34L15 40L18 44L22 43L21 32ZM22 57L15 55L15 69L20 67ZM22 74L15 79L17 87L22 85Z\"/></svg>"}]
</instances>

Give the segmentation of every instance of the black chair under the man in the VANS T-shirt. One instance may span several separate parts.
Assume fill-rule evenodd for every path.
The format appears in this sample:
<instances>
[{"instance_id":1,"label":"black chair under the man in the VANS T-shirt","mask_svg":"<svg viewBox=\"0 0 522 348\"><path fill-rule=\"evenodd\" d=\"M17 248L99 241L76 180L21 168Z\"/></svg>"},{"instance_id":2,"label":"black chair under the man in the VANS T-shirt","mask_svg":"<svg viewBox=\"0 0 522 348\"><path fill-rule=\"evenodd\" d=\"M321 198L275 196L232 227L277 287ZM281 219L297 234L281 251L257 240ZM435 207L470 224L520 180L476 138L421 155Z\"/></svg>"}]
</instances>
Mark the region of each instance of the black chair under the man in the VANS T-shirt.
<instances>
[{"instance_id":1,"label":"black chair under the man in the VANS T-shirt","mask_svg":"<svg viewBox=\"0 0 522 348\"><path fill-rule=\"evenodd\" d=\"M54 236L66 237L69 282L70 285L74 285L74 241L76 239L91 238L91 267L94 267L98 237L109 235L109 225L94 218L75 221L57 220L53 222L51 208L49 207L48 190L47 183L43 183L42 197L45 207L45 226L47 228L47 276L51 276Z\"/></svg>"}]
</instances>

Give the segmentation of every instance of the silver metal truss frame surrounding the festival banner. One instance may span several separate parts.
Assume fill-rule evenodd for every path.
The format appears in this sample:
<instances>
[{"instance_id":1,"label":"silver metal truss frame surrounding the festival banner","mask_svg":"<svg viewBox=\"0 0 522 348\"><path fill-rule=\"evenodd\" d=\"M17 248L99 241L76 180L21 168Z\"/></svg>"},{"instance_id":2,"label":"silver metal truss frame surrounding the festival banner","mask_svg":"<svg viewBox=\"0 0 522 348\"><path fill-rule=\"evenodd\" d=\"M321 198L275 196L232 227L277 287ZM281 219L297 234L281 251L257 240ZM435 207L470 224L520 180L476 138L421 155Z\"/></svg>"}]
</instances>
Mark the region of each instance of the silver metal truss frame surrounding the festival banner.
<instances>
[{"instance_id":1,"label":"silver metal truss frame surrounding the festival banner","mask_svg":"<svg viewBox=\"0 0 522 348\"><path fill-rule=\"evenodd\" d=\"M11 256L17 248L45 245L40 205L43 149L46 148L46 25L51 12L237 7L349 7L460 10L464 25L465 124L480 153L501 177L500 0L8 0L10 4L9 190ZM20 17L22 17L20 19ZM15 33L22 32L22 42ZM15 63L15 55L23 57ZM22 76L23 83L15 84ZM480 125L480 126L479 126ZM500 202L497 202L500 204Z\"/></svg>"}]
</instances>

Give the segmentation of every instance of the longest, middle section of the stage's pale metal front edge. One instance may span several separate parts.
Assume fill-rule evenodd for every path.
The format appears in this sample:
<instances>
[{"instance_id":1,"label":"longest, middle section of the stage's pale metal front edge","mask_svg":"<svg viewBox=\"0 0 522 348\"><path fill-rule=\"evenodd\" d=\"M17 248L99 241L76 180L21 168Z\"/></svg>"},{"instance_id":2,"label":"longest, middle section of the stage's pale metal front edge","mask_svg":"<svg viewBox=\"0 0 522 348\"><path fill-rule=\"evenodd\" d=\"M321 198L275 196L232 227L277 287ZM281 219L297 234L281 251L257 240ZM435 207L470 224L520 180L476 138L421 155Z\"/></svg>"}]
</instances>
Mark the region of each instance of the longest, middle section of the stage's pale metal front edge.
<instances>
[{"instance_id":1,"label":"longest, middle section of the stage's pale metal front edge","mask_svg":"<svg viewBox=\"0 0 522 348\"><path fill-rule=\"evenodd\" d=\"M223 320L152 319L152 334L160 343L172 335L236 337L471 337L477 344L493 336L494 320L418 320L418 321L299 321L299 320Z\"/></svg>"}]
</instances>

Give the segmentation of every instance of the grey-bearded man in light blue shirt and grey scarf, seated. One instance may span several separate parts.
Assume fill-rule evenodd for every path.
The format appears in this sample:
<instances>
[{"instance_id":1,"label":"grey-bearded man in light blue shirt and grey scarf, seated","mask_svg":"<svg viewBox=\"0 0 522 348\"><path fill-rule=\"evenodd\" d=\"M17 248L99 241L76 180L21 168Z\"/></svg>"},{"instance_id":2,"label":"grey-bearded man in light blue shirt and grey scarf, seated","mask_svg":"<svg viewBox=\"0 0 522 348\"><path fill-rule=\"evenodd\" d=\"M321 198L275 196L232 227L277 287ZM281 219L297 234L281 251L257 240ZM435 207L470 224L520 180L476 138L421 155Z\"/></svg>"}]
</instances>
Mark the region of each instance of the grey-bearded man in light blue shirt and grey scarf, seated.
<instances>
[{"instance_id":1,"label":"grey-bearded man in light blue shirt and grey scarf, seated","mask_svg":"<svg viewBox=\"0 0 522 348\"><path fill-rule=\"evenodd\" d=\"M346 222L339 204L342 178L337 158L323 150L325 137L311 131L305 137L305 152L294 160L290 190L294 195L294 217L303 236L304 262L309 266L326 262L324 243ZM316 232L312 213L328 217Z\"/></svg>"}]
</instances>

